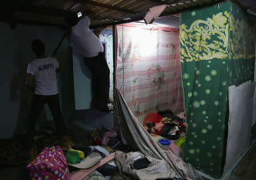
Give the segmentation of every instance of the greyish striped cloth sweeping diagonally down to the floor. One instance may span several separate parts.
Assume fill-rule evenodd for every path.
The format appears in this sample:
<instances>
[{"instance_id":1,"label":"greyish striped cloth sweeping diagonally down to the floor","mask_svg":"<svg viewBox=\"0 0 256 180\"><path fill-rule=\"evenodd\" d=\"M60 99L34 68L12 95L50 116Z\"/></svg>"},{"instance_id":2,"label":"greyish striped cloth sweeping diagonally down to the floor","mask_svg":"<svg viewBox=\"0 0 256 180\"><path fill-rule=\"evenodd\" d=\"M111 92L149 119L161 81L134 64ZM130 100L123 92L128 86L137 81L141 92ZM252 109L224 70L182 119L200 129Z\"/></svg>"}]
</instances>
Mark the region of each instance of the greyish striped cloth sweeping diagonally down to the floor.
<instances>
[{"instance_id":1,"label":"greyish striped cloth sweeping diagonally down to the floor","mask_svg":"<svg viewBox=\"0 0 256 180\"><path fill-rule=\"evenodd\" d=\"M139 149L146 156L166 160L176 174L184 179L202 179L190 164L185 164L179 157L156 142L148 134L131 112L117 87L114 89L114 105L115 129L119 131L123 140L130 144L133 149Z\"/></svg>"}]
</instances>

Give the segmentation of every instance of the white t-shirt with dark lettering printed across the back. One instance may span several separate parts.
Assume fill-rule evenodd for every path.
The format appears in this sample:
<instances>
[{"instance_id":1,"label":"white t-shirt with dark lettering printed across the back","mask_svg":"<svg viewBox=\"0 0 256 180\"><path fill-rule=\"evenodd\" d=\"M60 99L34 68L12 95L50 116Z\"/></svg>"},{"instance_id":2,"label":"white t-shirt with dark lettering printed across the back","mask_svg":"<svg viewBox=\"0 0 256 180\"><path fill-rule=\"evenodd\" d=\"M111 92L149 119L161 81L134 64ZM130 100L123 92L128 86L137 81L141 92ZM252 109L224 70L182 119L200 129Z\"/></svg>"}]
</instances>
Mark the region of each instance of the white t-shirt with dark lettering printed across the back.
<instances>
[{"instance_id":1,"label":"white t-shirt with dark lettering printed across the back","mask_svg":"<svg viewBox=\"0 0 256 180\"><path fill-rule=\"evenodd\" d=\"M27 73L35 77L36 95L49 96L58 93L56 68L59 68L59 62L53 57L35 59L28 64Z\"/></svg>"}]
</instances>

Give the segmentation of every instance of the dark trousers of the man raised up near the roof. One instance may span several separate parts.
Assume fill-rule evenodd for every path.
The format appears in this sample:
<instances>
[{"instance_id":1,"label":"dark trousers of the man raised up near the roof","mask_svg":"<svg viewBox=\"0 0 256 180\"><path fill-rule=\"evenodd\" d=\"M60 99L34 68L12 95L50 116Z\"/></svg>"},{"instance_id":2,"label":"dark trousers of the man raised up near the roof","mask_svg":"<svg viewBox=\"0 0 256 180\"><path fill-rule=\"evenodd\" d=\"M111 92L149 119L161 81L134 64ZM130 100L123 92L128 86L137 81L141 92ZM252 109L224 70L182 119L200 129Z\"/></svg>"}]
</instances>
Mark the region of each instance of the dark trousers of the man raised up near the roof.
<instances>
[{"instance_id":1,"label":"dark trousers of the man raised up near the roof","mask_svg":"<svg viewBox=\"0 0 256 180\"><path fill-rule=\"evenodd\" d=\"M92 106L96 109L108 108L109 101L109 66L106 62L105 53L92 58L84 58L85 65L92 72Z\"/></svg>"}]
</instances>

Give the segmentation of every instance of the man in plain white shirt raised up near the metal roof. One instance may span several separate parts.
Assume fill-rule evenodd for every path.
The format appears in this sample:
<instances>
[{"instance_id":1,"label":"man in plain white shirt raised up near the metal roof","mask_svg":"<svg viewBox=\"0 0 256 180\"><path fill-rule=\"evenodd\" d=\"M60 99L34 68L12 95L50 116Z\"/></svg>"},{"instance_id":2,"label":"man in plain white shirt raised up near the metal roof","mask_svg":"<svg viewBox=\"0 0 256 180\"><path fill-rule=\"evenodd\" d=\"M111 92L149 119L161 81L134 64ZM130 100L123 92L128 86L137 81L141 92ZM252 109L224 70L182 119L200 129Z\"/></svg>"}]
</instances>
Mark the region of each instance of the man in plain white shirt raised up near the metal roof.
<instances>
[{"instance_id":1,"label":"man in plain white shirt raised up near the metal roof","mask_svg":"<svg viewBox=\"0 0 256 180\"><path fill-rule=\"evenodd\" d=\"M85 65L92 72L92 106L93 108L109 112L109 67L103 45L97 37L99 29L92 32L89 29L90 20L94 16L93 11L87 11L87 15L81 16L76 20L77 23L72 27L72 42L84 57Z\"/></svg>"}]
</instances>

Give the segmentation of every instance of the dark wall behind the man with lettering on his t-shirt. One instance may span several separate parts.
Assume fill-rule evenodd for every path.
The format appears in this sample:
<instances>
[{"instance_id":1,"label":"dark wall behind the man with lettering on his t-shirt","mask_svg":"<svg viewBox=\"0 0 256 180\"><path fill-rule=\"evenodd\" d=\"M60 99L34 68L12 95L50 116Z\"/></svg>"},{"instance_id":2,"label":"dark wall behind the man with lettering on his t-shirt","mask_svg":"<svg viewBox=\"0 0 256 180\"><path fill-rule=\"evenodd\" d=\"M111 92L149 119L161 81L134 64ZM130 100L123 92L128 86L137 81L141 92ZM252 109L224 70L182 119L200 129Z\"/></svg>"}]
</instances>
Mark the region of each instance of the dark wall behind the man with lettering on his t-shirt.
<instances>
[{"instance_id":1,"label":"dark wall behind the man with lettering on his t-shirt","mask_svg":"<svg viewBox=\"0 0 256 180\"><path fill-rule=\"evenodd\" d=\"M46 44L46 55L51 55L65 31L54 27L18 25L14 30L6 23L0 23L1 39L1 126L0 139L24 134L27 115L30 111L32 92L26 87L26 70L29 62L35 59L30 44L40 38ZM61 72L57 74L61 109L65 121L72 117L74 108L73 69L68 38L60 46L57 56ZM45 126L52 119L47 108L40 116L39 126Z\"/></svg>"}]
</instances>

